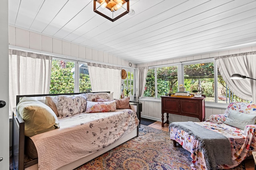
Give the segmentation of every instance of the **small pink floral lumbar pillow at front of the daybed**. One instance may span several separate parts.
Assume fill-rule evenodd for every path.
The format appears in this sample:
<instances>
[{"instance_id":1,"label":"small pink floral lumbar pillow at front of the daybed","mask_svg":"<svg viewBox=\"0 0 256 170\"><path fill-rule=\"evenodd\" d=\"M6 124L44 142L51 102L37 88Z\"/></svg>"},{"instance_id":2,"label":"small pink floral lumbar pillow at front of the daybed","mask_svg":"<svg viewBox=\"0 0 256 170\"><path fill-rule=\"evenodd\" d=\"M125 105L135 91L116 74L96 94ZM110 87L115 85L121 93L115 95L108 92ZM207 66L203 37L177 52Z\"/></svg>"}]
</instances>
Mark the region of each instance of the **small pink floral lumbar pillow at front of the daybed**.
<instances>
[{"instance_id":1,"label":"small pink floral lumbar pillow at front of the daybed","mask_svg":"<svg viewBox=\"0 0 256 170\"><path fill-rule=\"evenodd\" d=\"M85 113L116 111L116 102L90 102L87 101Z\"/></svg>"}]
</instances>

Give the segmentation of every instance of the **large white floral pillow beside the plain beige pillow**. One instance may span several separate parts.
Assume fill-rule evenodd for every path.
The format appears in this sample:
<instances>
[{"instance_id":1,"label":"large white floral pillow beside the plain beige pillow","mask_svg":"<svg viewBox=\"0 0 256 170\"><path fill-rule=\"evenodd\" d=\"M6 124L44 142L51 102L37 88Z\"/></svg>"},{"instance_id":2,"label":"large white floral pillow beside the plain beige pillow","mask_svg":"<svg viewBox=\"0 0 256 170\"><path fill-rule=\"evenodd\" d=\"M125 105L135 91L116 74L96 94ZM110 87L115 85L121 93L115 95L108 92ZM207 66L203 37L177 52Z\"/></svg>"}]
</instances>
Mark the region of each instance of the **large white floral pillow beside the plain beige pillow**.
<instances>
[{"instance_id":1,"label":"large white floral pillow beside the plain beige pillow","mask_svg":"<svg viewBox=\"0 0 256 170\"><path fill-rule=\"evenodd\" d=\"M54 103L58 109L59 117L68 117L86 110L86 97L83 95L54 97Z\"/></svg>"}]
</instances>

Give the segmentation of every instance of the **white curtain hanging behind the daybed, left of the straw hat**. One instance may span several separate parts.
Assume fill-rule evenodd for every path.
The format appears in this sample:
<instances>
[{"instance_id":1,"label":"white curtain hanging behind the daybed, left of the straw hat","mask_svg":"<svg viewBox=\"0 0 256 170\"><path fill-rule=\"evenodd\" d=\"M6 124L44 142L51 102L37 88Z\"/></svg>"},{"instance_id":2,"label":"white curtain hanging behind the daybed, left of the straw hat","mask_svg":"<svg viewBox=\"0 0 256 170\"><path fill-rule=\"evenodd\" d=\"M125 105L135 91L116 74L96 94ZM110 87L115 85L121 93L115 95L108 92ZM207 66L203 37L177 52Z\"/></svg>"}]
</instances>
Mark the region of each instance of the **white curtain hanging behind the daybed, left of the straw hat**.
<instances>
[{"instance_id":1,"label":"white curtain hanging behind the daybed, left of the straw hat","mask_svg":"<svg viewBox=\"0 0 256 170\"><path fill-rule=\"evenodd\" d=\"M114 92L119 99L121 93L121 67L87 63L92 92Z\"/></svg>"}]
</instances>

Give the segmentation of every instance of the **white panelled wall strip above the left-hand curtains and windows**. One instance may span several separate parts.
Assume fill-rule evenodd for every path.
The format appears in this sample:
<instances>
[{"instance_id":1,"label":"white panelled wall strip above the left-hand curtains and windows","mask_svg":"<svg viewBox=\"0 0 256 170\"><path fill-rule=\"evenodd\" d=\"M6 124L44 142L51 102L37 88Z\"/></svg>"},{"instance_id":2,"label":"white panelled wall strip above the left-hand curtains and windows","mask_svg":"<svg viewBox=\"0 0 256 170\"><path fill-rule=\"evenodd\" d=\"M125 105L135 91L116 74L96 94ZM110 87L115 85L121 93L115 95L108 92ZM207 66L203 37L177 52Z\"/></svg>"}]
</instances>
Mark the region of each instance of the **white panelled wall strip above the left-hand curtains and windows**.
<instances>
[{"instance_id":1,"label":"white panelled wall strip above the left-hand curtains and windows","mask_svg":"<svg viewBox=\"0 0 256 170\"><path fill-rule=\"evenodd\" d=\"M90 61L130 67L129 61L108 53L13 26L9 26L9 47L45 53L54 57L74 59L76 61ZM132 63L132 66L135 66L135 64Z\"/></svg>"}]
</instances>

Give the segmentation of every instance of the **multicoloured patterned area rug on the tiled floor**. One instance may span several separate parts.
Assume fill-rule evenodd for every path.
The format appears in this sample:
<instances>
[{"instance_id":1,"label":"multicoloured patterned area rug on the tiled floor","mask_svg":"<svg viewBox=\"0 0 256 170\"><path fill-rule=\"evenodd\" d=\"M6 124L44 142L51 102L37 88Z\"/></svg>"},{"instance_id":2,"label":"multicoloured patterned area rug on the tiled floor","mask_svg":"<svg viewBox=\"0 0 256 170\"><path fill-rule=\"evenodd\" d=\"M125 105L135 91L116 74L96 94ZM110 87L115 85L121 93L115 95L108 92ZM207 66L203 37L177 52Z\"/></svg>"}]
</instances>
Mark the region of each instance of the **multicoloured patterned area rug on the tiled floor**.
<instances>
[{"instance_id":1,"label":"multicoloured patterned area rug on the tiled floor","mask_svg":"<svg viewBox=\"0 0 256 170\"><path fill-rule=\"evenodd\" d=\"M140 126L139 137L75 170L190 170L190 152L173 147L169 133ZM232 170L245 170L244 164Z\"/></svg>"}]
</instances>

